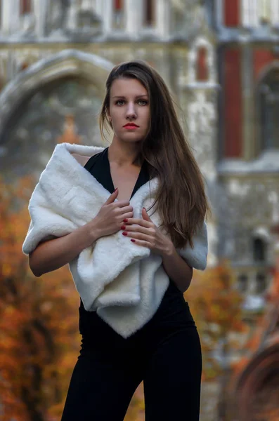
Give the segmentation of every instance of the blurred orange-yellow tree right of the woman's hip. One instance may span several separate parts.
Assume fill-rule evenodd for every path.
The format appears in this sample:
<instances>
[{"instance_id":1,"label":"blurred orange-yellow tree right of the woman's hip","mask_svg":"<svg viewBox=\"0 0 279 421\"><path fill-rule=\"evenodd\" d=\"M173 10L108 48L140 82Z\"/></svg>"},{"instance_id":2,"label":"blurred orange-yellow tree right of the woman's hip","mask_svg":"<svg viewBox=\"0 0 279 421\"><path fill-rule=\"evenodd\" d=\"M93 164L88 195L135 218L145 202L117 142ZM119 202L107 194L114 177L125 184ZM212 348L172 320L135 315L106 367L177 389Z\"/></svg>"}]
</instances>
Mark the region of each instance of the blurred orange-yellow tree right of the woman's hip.
<instances>
[{"instance_id":1,"label":"blurred orange-yellow tree right of the woman's hip","mask_svg":"<svg viewBox=\"0 0 279 421\"><path fill-rule=\"evenodd\" d=\"M233 270L223 260L205 272L195 272L185 293L202 342L202 380L219 381L219 420L226 419L231 361L248 330L242 321L243 298L236 286Z\"/></svg>"}]
</instances>

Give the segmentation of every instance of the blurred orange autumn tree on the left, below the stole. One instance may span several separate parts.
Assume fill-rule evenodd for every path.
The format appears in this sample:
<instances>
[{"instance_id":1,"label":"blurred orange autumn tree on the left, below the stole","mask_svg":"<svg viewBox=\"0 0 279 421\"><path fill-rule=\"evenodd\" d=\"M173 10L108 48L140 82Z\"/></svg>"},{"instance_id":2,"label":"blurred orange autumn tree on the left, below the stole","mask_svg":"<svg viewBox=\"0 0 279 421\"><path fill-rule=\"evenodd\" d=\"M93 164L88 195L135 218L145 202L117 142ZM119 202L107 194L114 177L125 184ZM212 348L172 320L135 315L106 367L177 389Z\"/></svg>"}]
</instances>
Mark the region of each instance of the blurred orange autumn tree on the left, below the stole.
<instances>
[{"instance_id":1,"label":"blurred orange autumn tree on the left, below the stole","mask_svg":"<svg viewBox=\"0 0 279 421\"><path fill-rule=\"evenodd\" d=\"M36 278L22 254L33 184L0 180L2 421L60 420L79 352L79 296L67 268Z\"/></svg>"}]
</instances>

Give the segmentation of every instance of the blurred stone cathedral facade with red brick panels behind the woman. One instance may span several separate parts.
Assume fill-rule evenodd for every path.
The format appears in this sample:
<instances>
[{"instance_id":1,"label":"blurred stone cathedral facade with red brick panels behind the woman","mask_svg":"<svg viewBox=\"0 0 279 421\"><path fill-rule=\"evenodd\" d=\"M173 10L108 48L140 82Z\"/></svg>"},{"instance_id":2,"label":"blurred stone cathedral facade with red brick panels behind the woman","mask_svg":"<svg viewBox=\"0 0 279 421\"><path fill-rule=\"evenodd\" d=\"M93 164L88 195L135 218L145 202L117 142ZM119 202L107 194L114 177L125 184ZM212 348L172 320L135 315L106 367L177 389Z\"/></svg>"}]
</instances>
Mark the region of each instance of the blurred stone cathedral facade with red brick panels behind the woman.
<instances>
[{"instance_id":1,"label":"blurred stone cathedral facade with red brick panels behind the woman","mask_svg":"<svg viewBox=\"0 0 279 421\"><path fill-rule=\"evenodd\" d=\"M279 220L278 0L1 0L0 171L38 175L69 121L101 145L113 65L164 77L207 180L209 265L264 306Z\"/></svg>"}]
</instances>

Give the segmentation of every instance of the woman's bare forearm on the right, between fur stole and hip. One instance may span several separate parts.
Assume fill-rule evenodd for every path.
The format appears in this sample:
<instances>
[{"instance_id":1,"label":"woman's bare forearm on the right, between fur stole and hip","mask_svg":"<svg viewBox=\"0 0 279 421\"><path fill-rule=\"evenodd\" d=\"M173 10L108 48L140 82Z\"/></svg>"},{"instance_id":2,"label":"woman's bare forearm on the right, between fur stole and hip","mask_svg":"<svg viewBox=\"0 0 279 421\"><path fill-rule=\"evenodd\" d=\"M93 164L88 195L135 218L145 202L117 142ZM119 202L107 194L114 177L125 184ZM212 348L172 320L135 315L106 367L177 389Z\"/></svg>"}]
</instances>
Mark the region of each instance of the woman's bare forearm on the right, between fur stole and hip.
<instances>
[{"instance_id":1,"label":"woman's bare forearm on the right, between fur stole and hip","mask_svg":"<svg viewBox=\"0 0 279 421\"><path fill-rule=\"evenodd\" d=\"M185 293L188 290L192 276L193 267L181 258L174 245L170 247L167 253L162 254L164 270L169 278L176 283L177 288Z\"/></svg>"}]
</instances>

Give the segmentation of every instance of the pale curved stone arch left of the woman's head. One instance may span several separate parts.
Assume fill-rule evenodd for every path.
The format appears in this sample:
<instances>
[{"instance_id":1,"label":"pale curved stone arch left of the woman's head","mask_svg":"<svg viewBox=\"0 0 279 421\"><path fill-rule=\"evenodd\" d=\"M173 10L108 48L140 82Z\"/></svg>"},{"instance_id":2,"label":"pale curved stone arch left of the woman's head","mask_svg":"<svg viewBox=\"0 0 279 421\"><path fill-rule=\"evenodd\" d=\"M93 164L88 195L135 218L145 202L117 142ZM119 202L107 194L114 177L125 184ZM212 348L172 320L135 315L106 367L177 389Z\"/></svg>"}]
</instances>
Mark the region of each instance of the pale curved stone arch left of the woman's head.
<instances>
[{"instance_id":1,"label":"pale curved stone arch left of the woman's head","mask_svg":"<svg viewBox=\"0 0 279 421\"><path fill-rule=\"evenodd\" d=\"M105 80L113 64L98 55L69 49L34 63L9 82L0 94L0 142L13 111L32 91L66 76L92 81L103 96Z\"/></svg>"}]
</instances>

